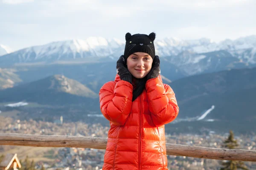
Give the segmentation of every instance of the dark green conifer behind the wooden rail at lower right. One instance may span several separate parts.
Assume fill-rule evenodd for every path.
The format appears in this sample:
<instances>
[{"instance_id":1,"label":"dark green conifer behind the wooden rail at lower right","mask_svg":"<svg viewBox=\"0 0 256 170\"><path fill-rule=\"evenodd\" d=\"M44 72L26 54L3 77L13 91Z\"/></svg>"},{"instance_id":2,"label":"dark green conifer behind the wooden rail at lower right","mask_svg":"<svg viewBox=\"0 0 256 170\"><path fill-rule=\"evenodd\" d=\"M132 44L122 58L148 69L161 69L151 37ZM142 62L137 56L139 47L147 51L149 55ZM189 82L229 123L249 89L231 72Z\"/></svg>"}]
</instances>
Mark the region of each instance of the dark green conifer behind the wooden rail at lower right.
<instances>
[{"instance_id":1,"label":"dark green conifer behind the wooden rail at lower right","mask_svg":"<svg viewBox=\"0 0 256 170\"><path fill-rule=\"evenodd\" d=\"M222 147L228 149L237 149L239 147L237 140L234 138L234 133L232 130L230 130L230 135L223 142ZM222 167L220 170L249 170L242 161L222 161L221 165Z\"/></svg>"}]
</instances>

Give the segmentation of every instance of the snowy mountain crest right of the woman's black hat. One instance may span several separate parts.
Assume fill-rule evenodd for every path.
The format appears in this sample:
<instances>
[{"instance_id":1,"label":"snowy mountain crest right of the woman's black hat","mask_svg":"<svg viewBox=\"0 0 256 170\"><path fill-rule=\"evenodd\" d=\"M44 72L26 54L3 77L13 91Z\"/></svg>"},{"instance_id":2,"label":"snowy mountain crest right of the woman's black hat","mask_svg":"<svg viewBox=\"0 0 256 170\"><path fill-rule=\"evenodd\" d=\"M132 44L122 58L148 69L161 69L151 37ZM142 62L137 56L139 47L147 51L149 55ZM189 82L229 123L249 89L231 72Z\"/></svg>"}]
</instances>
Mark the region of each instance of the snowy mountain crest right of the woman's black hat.
<instances>
[{"instance_id":1,"label":"snowy mountain crest right of the woman's black hat","mask_svg":"<svg viewBox=\"0 0 256 170\"><path fill-rule=\"evenodd\" d=\"M242 37L237 40L227 39L219 43L213 42L207 38L201 38L199 40L178 40L174 38L166 38L164 40L156 41L155 44L157 54L162 57L177 56L183 51L202 54L224 50L228 51L234 57L245 59L244 62L246 63L256 63L256 35ZM247 53L244 56L243 53L245 51L247 51Z\"/></svg>"}]
</instances>

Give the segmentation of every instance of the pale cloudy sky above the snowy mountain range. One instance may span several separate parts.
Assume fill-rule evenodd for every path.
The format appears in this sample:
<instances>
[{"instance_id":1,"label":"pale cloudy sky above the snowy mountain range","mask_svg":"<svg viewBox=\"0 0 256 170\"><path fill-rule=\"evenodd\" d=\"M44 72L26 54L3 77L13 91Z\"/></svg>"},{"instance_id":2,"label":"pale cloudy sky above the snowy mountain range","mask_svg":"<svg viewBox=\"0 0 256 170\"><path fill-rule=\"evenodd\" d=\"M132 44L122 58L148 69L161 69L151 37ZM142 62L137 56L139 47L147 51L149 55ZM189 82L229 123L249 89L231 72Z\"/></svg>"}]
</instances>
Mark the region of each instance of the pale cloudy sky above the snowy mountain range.
<instances>
[{"instance_id":1,"label":"pale cloudy sky above the snowy mountain range","mask_svg":"<svg viewBox=\"0 0 256 170\"><path fill-rule=\"evenodd\" d=\"M256 0L0 0L0 44L13 50L53 41L150 34L157 39L256 35Z\"/></svg>"}]
</instances>

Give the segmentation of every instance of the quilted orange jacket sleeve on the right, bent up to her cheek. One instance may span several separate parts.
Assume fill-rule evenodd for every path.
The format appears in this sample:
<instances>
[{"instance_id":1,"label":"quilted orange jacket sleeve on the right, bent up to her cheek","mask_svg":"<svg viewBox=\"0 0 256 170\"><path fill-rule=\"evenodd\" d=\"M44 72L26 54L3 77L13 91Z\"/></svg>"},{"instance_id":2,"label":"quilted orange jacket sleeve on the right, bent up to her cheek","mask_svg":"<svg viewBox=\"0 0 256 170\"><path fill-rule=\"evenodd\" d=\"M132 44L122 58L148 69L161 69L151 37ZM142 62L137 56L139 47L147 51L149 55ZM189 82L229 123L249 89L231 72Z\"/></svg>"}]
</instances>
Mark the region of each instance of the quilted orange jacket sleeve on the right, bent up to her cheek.
<instances>
[{"instance_id":1,"label":"quilted orange jacket sleeve on the right, bent up to her cheek","mask_svg":"<svg viewBox=\"0 0 256 170\"><path fill-rule=\"evenodd\" d=\"M146 83L149 111L156 126L172 122L179 113L175 94L169 85L157 77Z\"/></svg>"}]
</instances>

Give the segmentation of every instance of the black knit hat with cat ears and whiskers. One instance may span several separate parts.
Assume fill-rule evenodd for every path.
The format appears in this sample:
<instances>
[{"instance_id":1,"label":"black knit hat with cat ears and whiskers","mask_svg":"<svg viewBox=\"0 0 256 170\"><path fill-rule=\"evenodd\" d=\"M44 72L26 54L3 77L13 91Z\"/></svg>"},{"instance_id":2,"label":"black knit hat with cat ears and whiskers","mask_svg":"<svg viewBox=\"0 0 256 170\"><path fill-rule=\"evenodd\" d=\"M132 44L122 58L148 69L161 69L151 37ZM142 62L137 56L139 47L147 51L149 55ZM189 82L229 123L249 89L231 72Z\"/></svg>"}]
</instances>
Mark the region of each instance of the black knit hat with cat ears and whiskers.
<instances>
[{"instance_id":1,"label":"black knit hat with cat ears and whiskers","mask_svg":"<svg viewBox=\"0 0 256 170\"><path fill-rule=\"evenodd\" d=\"M156 38L156 34L154 32L149 35L146 34L134 34L131 35L129 32L125 34L125 52L124 58L125 63L127 58L136 52L144 52L149 54L152 59L155 56L155 48L154 48L154 40Z\"/></svg>"}]
</instances>

